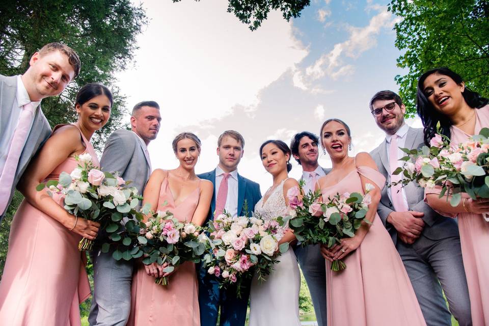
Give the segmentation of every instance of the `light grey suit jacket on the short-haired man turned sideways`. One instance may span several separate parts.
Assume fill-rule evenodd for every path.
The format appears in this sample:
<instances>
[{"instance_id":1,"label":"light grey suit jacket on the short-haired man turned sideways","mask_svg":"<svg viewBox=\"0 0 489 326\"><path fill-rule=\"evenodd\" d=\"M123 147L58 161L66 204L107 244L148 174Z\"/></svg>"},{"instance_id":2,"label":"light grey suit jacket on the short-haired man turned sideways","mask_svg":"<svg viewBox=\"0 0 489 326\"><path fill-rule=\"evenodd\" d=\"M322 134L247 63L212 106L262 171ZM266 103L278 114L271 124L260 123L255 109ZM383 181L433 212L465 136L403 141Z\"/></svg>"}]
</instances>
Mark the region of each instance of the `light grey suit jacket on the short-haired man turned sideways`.
<instances>
[{"instance_id":1,"label":"light grey suit jacket on the short-haired man turned sideways","mask_svg":"<svg viewBox=\"0 0 489 326\"><path fill-rule=\"evenodd\" d=\"M129 186L136 187L143 195L151 170L137 134L126 129L114 131L105 143L100 166L103 171L119 171L119 176L131 180Z\"/></svg>"}]
</instances>

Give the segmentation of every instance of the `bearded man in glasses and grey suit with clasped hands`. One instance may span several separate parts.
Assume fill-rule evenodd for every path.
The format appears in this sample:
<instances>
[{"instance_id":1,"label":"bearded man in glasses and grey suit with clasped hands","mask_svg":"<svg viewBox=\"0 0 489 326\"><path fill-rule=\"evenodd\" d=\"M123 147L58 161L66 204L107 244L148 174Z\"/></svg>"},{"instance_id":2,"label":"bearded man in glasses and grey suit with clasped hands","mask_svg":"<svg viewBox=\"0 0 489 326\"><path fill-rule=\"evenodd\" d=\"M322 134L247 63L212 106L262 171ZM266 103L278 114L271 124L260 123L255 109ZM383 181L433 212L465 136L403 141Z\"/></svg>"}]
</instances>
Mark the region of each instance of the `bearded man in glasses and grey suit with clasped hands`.
<instances>
[{"instance_id":1,"label":"bearded man in glasses and grey suit with clasped hands","mask_svg":"<svg viewBox=\"0 0 489 326\"><path fill-rule=\"evenodd\" d=\"M423 145L423 129L404 122L405 106L394 92L381 91L370 100L370 111L386 139L370 155L387 182L400 179L392 172L405 156L399 147ZM424 202L424 189L415 182L384 187L378 215L394 241L428 326L451 325L450 311L460 325L471 325L469 291L460 252L458 226Z\"/></svg>"}]
</instances>

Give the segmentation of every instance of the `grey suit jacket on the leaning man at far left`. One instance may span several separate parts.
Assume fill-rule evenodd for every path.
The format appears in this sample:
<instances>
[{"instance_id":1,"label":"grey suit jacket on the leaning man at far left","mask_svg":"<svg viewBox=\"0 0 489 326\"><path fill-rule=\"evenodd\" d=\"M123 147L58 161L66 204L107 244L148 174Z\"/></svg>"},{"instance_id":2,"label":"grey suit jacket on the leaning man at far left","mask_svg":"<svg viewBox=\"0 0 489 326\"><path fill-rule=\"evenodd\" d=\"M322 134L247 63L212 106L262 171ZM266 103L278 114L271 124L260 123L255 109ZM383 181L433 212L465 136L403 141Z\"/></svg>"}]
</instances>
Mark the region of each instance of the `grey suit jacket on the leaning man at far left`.
<instances>
[{"instance_id":1,"label":"grey suit jacket on the leaning man at far left","mask_svg":"<svg viewBox=\"0 0 489 326\"><path fill-rule=\"evenodd\" d=\"M7 122L9 121L8 117L12 112L12 105L14 104L16 94L17 76L7 77L0 75L0 137L4 137L4 131L7 128ZM42 113L40 106L37 107L33 119L31 132L29 133L22 153L20 154L19 164L17 166L17 171L15 172L14 182L12 183L10 193L1 194L1 196L9 196L9 203L14 195L15 187L17 186L20 177L25 172L25 169L28 167L29 162L51 134L51 127ZM7 209L5 211L7 211ZM0 212L0 214L1 222L5 212Z\"/></svg>"}]
</instances>

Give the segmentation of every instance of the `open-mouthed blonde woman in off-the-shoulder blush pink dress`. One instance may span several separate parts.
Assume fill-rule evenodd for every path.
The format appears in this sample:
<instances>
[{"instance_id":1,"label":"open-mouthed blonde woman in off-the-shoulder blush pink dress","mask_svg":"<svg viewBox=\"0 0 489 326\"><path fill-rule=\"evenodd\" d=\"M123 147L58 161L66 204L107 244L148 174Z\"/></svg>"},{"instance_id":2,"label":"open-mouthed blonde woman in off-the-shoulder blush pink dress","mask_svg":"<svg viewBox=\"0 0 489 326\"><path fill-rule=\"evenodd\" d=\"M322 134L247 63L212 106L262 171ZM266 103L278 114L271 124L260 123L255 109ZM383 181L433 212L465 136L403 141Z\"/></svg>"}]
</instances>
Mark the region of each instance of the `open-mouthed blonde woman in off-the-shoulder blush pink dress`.
<instances>
[{"instance_id":1,"label":"open-mouthed blonde woman in off-the-shoulder blush pink dress","mask_svg":"<svg viewBox=\"0 0 489 326\"><path fill-rule=\"evenodd\" d=\"M323 200L337 193L370 192L366 219L352 238L328 249L321 246L326 264L328 325L425 326L416 295L394 243L377 215L377 204L386 180L368 153L348 156L348 126L338 119L323 123L321 145L331 157L333 169L318 180ZM330 262L342 259L346 269L332 271Z\"/></svg>"}]
</instances>

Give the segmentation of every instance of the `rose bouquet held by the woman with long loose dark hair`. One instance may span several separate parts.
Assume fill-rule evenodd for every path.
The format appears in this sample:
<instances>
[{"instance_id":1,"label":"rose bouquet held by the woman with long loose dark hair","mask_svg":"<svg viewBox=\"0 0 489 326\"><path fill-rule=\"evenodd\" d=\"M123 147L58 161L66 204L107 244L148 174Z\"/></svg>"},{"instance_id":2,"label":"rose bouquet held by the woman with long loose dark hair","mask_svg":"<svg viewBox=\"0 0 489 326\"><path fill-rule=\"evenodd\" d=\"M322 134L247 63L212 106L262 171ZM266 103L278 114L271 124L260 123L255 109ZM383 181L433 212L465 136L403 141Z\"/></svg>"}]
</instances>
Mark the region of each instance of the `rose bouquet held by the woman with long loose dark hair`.
<instances>
[{"instance_id":1,"label":"rose bouquet held by the woman with long loose dark hair","mask_svg":"<svg viewBox=\"0 0 489 326\"><path fill-rule=\"evenodd\" d=\"M454 146L450 146L450 140L444 135L435 134L430 147L401 150L407 154L401 158L406 162L394 174L402 173L404 178L391 185L406 185L413 180L426 188L439 185L442 187L439 197L452 195L452 206L460 203L461 193L467 193L472 199L489 198L488 128Z\"/></svg>"}]
</instances>

